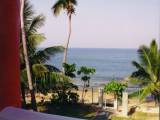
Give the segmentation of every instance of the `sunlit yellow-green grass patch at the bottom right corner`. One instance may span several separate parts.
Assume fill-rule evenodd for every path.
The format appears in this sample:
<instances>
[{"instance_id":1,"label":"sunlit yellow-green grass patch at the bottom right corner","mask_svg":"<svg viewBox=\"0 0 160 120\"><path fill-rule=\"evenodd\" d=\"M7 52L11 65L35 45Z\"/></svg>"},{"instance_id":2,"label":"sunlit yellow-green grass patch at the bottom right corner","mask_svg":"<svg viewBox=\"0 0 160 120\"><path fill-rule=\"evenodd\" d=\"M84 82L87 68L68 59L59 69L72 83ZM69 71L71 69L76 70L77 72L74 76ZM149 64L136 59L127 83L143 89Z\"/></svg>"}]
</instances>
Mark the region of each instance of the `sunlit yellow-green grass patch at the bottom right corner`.
<instances>
[{"instance_id":1,"label":"sunlit yellow-green grass patch at the bottom right corner","mask_svg":"<svg viewBox=\"0 0 160 120\"><path fill-rule=\"evenodd\" d=\"M111 120L159 120L158 114L136 112L128 118L112 116Z\"/></svg>"}]
</instances>

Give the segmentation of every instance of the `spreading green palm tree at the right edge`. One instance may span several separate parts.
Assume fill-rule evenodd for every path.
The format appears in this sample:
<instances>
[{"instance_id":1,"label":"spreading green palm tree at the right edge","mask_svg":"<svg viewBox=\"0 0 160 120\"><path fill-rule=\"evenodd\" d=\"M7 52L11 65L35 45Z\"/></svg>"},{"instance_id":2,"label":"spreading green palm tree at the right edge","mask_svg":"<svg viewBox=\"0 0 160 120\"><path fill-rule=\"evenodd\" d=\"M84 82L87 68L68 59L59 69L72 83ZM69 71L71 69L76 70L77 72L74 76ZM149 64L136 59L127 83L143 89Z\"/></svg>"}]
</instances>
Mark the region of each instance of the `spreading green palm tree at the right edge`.
<instances>
[{"instance_id":1,"label":"spreading green palm tree at the right edge","mask_svg":"<svg viewBox=\"0 0 160 120\"><path fill-rule=\"evenodd\" d=\"M137 71L131 77L136 78L142 87L141 99L152 94L160 105L160 52L156 41L153 40L150 47L141 46L138 53L139 63L132 62Z\"/></svg>"}]
</instances>

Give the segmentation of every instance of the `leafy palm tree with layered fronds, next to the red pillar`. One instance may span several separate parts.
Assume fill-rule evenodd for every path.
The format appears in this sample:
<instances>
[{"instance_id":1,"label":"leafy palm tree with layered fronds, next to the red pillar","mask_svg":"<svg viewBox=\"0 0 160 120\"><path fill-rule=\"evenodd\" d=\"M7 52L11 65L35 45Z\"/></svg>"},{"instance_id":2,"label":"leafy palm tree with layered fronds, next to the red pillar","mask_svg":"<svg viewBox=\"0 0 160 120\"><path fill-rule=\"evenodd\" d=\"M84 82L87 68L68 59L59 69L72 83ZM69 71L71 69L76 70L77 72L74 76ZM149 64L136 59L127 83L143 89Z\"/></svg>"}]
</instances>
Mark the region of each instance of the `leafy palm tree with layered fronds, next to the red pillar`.
<instances>
[{"instance_id":1,"label":"leafy palm tree with layered fronds, next to the red pillar","mask_svg":"<svg viewBox=\"0 0 160 120\"><path fill-rule=\"evenodd\" d=\"M38 32L38 29L44 25L45 18L43 15L34 16L33 6L30 4L28 0L22 1L24 2L23 8L21 8L21 21L22 23L21 29L23 30L23 34L21 32L20 39L20 61L21 61L21 93L24 105L26 104L25 100L25 90L28 88L33 90L36 88L36 79L39 76L44 75L48 71L59 71L57 68L51 65L46 65L45 62L49 60L50 56L55 55L58 52L63 51L63 47L61 46L53 46L45 49L37 50L38 45L45 40L44 34ZM23 12L23 13L22 13ZM23 14L23 16L22 16ZM23 41L25 38L25 41ZM24 43L25 42L25 43ZM23 45L26 45L26 47ZM24 48L25 47L25 48ZM27 49L27 56L24 54L24 49ZM27 84L27 67L26 67L26 59L29 62L29 73L32 75L30 78L30 84ZM32 98L34 99L34 98ZM32 100L33 101L33 100ZM36 102L36 101L33 101ZM33 103L34 106L35 103Z\"/></svg>"}]
</instances>

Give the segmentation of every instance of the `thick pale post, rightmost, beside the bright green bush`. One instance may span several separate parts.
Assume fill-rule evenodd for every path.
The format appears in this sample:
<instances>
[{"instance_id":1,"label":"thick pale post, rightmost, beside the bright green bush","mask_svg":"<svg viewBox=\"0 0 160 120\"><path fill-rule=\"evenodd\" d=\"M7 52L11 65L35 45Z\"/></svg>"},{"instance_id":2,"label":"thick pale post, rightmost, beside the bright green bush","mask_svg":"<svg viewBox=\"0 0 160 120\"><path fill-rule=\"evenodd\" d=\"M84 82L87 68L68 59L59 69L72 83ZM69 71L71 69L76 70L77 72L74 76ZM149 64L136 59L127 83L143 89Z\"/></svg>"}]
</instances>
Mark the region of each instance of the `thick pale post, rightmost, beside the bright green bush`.
<instances>
[{"instance_id":1,"label":"thick pale post, rightmost, beside the bright green bush","mask_svg":"<svg viewBox=\"0 0 160 120\"><path fill-rule=\"evenodd\" d=\"M128 116L128 93L123 92L122 95L122 115Z\"/></svg>"}]
</instances>

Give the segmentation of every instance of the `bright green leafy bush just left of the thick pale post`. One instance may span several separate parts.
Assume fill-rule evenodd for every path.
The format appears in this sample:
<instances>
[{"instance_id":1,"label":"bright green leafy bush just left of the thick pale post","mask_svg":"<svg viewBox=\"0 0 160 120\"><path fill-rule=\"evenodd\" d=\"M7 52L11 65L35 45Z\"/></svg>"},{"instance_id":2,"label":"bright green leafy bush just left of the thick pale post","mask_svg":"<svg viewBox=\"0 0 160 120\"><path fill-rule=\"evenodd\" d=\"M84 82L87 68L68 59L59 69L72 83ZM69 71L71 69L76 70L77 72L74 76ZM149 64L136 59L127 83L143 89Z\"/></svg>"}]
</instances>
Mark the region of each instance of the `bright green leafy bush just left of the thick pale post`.
<instances>
[{"instance_id":1,"label":"bright green leafy bush just left of the thick pale post","mask_svg":"<svg viewBox=\"0 0 160 120\"><path fill-rule=\"evenodd\" d=\"M115 97L121 98L122 92L126 89L126 87L126 84L113 80L105 85L104 91L106 93L113 93Z\"/></svg>"}]
</instances>

